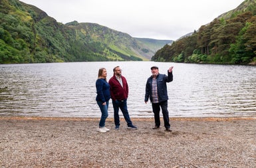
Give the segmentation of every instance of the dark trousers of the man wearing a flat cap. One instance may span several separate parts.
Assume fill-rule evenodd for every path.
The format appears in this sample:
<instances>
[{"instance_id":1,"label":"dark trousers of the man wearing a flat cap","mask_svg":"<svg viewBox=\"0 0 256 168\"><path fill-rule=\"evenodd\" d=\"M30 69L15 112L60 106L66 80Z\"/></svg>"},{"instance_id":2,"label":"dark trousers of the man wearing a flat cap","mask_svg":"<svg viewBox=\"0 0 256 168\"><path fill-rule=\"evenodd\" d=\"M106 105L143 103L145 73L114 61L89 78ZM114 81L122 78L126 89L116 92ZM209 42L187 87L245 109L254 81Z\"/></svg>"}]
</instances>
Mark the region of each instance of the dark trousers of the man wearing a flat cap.
<instances>
[{"instance_id":1,"label":"dark trousers of the man wearing a flat cap","mask_svg":"<svg viewBox=\"0 0 256 168\"><path fill-rule=\"evenodd\" d=\"M154 112L155 124L160 127L160 107L162 108L162 114L164 118L164 127L170 128L168 102L167 100L160 103L152 103L152 109Z\"/></svg>"}]
</instances>

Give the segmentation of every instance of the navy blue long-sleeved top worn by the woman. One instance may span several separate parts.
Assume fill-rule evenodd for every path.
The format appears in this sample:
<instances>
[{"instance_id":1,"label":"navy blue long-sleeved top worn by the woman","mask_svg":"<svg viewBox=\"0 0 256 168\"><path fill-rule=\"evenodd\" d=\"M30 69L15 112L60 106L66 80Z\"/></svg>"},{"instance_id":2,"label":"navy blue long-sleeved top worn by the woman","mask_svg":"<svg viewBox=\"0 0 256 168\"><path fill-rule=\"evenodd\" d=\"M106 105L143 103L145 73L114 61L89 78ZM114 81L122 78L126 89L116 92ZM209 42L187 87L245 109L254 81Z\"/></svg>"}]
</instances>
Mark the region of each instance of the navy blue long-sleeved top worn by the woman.
<instances>
[{"instance_id":1,"label":"navy blue long-sleeved top worn by the woman","mask_svg":"<svg viewBox=\"0 0 256 168\"><path fill-rule=\"evenodd\" d=\"M110 100L110 86L105 79L99 78L96 80L96 91L96 101L104 103Z\"/></svg>"}]
</instances>

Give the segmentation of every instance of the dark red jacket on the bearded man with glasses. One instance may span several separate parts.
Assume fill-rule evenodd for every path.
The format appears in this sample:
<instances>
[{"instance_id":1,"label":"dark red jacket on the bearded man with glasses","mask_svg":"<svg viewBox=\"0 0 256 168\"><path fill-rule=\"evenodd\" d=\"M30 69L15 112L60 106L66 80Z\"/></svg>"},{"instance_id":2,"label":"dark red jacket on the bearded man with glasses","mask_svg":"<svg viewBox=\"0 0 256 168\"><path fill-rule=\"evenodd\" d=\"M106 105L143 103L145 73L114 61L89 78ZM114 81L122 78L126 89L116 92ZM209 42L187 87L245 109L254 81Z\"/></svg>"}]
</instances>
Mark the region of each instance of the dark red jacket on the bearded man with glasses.
<instances>
[{"instance_id":1,"label":"dark red jacket on the bearded man with glasses","mask_svg":"<svg viewBox=\"0 0 256 168\"><path fill-rule=\"evenodd\" d=\"M128 98L128 84L126 81L126 78L124 76L121 76L122 78L122 86L120 82L116 79L116 76L112 76L110 80L108 81L108 84L110 84L110 94L112 100L126 100Z\"/></svg>"}]
</instances>

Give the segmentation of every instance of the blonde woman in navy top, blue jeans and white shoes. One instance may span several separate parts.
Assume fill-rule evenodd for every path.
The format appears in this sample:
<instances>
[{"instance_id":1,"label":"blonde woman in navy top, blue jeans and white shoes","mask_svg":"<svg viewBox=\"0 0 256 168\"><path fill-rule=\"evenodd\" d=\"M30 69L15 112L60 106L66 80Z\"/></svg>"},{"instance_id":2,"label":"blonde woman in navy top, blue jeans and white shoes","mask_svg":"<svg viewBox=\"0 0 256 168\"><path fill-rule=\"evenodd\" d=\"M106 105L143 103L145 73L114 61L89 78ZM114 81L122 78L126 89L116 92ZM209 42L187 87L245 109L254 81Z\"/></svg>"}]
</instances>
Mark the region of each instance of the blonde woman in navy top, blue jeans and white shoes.
<instances>
[{"instance_id":1,"label":"blonde woman in navy top, blue jeans and white shoes","mask_svg":"<svg viewBox=\"0 0 256 168\"><path fill-rule=\"evenodd\" d=\"M96 80L96 102L100 107L101 118L97 128L99 132L110 131L105 127L106 118L108 117L108 100L110 100L110 86L106 81L106 69L100 68L98 70L98 79Z\"/></svg>"}]
</instances>

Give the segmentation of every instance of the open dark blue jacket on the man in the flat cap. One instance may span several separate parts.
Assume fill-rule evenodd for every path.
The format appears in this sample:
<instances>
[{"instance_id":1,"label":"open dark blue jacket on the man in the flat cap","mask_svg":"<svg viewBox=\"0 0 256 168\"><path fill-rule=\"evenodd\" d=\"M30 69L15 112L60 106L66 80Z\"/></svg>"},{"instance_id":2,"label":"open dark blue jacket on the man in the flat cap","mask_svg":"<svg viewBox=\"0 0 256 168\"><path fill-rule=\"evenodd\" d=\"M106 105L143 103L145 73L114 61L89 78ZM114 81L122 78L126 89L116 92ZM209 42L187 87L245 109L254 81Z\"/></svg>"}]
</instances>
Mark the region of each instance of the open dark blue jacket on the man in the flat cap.
<instances>
[{"instance_id":1,"label":"open dark blue jacket on the man in the flat cap","mask_svg":"<svg viewBox=\"0 0 256 168\"><path fill-rule=\"evenodd\" d=\"M172 72L169 71L168 76L166 76L166 74L158 74L158 76L156 76L156 83L158 86L158 102L168 100L166 82L172 82L173 79ZM150 98L150 102L152 102L152 80L153 76L150 76L150 78L147 80L144 102L148 102L148 98Z\"/></svg>"}]
</instances>

